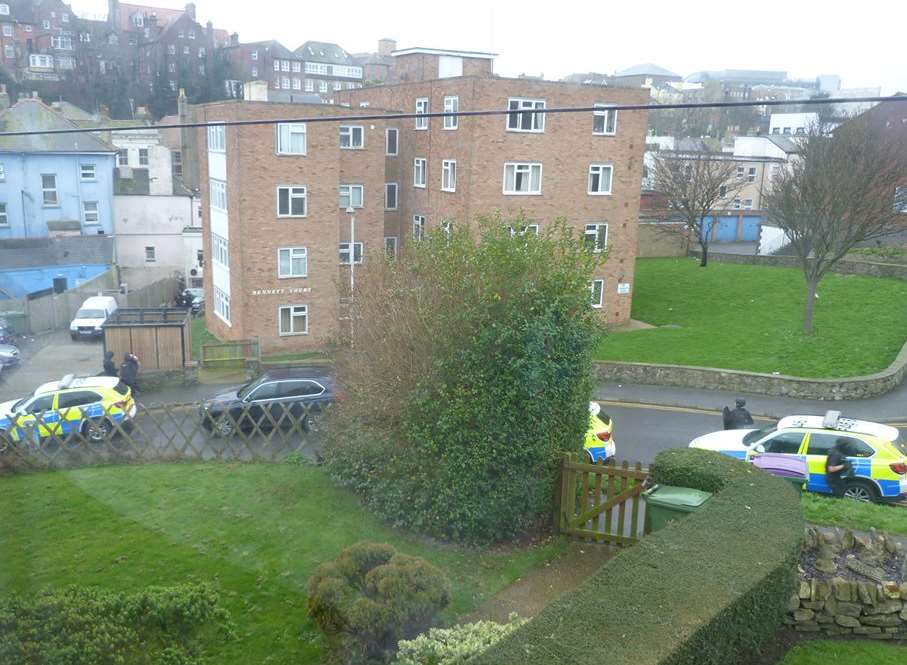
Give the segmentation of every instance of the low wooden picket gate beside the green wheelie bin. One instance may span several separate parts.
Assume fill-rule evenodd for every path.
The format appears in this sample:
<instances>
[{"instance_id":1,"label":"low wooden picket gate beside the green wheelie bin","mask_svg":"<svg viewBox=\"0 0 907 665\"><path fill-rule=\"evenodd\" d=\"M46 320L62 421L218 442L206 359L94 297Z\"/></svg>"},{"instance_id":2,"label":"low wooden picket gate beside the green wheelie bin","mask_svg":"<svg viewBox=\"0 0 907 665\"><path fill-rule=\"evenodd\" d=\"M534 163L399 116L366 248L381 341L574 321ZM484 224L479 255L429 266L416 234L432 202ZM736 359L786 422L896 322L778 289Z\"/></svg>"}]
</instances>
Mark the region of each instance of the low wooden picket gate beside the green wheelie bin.
<instances>
[{"instance_id":1,"label":"low wooden picket gate beside the green wheelie bin","mask_svg":"<svg viewBox=\"0 0 907 665\"><path fill-rule=\"evenodd\" d=\"M645 531L645 502L640 498L648 472L614 460L589 464L565 455L561 467L561 533L631 545Z\"/></svg>"}]
</instances>

